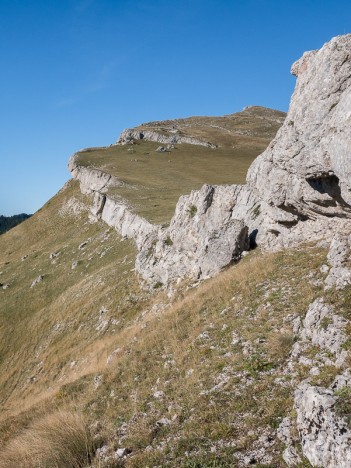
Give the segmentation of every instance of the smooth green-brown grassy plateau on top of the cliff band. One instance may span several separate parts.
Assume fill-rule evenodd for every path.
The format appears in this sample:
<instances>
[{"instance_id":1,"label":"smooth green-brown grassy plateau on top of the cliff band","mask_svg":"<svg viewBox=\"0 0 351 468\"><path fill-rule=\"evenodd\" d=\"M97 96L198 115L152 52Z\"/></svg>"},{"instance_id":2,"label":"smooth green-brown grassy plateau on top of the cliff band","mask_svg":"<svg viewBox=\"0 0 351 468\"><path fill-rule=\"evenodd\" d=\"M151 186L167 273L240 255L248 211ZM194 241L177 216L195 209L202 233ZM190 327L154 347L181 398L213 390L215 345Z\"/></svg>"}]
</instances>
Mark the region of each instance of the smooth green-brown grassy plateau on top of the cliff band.
<instances>
[{"instance_id":1,"label":"smooth green-brown grassy plateau on top of the cliff band","mask_svg":"<svg viewBox=\"0 0 351 468\"><path fill-rule=\"evenodd\" d=\"M153 223L170 221L179 197L208 184L242 184L247 169L275 136L284 113L264 108L224 117L191 117L145 124L158 133L173 128L184 135L220 144L217 149L179 144L159 153L158 143L94 148L79 153L78 164L98 167L115 175L123 187L110 196L122 197Z\"/></svg>"}]
</instances>

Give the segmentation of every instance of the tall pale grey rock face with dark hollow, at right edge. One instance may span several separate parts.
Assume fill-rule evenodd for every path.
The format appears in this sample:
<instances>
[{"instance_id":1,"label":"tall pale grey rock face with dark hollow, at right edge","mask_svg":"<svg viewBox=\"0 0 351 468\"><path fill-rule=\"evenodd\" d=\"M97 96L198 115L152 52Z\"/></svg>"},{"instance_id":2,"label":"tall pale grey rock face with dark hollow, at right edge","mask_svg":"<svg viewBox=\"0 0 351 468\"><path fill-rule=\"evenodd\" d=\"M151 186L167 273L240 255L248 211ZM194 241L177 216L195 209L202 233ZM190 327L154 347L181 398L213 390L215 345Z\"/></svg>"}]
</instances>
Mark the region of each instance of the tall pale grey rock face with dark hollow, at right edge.
<instances>
[{"instance_id":1,"label":"tall pale grey rock face with dark hollow, at right edge","mask_svg":"<svg viewBox=\"0 0 351 468\"><path fill-rule=\"evenodd\" d=\"M270 249L330 239L351 218L351 35L305 53L292 73L287 118L247 176L261 204L257 240Z\"/></svg>"}]
</instances>

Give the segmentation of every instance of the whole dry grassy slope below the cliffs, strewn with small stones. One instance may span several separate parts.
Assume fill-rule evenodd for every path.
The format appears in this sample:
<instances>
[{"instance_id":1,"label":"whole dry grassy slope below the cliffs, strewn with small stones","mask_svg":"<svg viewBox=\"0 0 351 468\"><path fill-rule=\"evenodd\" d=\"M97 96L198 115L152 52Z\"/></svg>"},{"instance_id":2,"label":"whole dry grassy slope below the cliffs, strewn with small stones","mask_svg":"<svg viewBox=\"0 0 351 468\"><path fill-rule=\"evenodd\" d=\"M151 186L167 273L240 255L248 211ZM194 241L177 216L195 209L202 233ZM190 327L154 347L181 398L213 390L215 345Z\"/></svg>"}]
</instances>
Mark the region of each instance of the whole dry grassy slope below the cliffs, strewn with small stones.
<instances>
[{"instance_id":1,"label":"whole dry grassy slope below the cliffs, strewn with small stones","mask_svg":"<svg viewBox=\"0 0 351 468\"><path fill-rule=\"evenodd\" d=\"M279 466L274 429L293 393L283 373L293 340L286 318L321 294L308 278L320 277L325 251L252 252L168 300L140 289L129 242L112 231L103 240L106 226L89 224L85 211L58 214L72 198L86 201L75 183L0 240L10 283L0 290L3 441L52 409L74 408L100 422L95 432L111 451L132 450L126 466L237 466L263 435ZM160 426L162 418L172 423Z\"/></svg>"}]
</instances>

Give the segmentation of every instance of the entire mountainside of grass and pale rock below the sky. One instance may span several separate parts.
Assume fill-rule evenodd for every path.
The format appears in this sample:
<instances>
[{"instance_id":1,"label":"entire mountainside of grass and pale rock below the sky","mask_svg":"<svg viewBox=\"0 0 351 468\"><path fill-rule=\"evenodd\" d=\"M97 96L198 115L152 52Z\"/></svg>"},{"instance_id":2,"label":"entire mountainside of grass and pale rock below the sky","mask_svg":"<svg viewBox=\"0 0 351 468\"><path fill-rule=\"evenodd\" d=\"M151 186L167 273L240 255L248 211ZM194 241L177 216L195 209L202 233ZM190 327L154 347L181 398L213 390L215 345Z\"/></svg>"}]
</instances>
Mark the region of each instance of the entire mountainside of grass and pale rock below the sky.
<instances>
[{"instance_id":1,"label":"entire mountainside of grass and pale rock below the sky","mask_svg":"<svg viewBox=\"0 0 351 468\"><path fill-rule=\"evenodd\" d=\"M0 468L350 466L350 51L293 64L285 120L76 153L0 237Z\"/></svg>"}]
</instances>

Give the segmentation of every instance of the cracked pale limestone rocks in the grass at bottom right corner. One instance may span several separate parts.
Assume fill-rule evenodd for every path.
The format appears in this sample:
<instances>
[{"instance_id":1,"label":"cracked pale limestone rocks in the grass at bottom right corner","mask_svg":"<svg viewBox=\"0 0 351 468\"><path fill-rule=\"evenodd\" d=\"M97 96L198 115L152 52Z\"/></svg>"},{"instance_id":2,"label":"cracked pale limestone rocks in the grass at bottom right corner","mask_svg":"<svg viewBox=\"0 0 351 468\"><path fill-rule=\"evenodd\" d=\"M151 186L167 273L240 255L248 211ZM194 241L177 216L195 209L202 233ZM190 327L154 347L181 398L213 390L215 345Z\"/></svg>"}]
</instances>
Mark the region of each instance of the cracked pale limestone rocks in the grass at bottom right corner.
<instances>
[{"instance_id":1,"label":"cracked pale limestone rocks in the grass at bottom right corner","mask_svg":"<svg viewBox=\"0 0 351 468\"><path fill-rule=\"evenodd\" d=\"M334 354L335 363L331 362L329 365L342 366L347 356L347 351L343 349L347 340L347 324L347 320L335 314L333 306L324 303L323 299L316 299L310 304L302 326L299 327L299 339L294 344L291 359L296 360L299 349L303 348L304 343L311 342L321 350ZM309 365L314 365L314 362L311 361ZM295 391L296 427L302 453L312 466L351 466L351 430L348 421L336 411L339 398L337 392L346 386L351 386L349 369L337 376L329 388L312 386L305 380ZM296 466L291 457L296 450L291 438L290 423L287 418L282 421L278 437L287 446L283 454L284 460L289 466Z\"/></svg>"}]
</instances>

